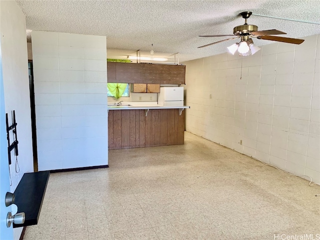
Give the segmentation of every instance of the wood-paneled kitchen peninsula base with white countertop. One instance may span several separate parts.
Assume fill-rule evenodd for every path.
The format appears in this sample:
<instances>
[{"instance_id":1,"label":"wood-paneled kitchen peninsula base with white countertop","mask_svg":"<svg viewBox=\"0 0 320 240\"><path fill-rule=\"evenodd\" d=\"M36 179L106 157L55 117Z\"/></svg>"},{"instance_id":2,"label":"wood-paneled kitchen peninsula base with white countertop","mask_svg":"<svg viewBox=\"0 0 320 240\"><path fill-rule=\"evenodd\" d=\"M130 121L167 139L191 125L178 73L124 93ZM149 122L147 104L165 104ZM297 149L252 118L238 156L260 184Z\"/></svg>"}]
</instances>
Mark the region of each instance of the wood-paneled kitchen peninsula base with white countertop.
<instances>
[{"instance_id":1,"label":"wood-paneled kitchen peninsula base with white countertop","mask_svg":"<svg viewBox=\"0 0 320 240\"><path fill-rule=\"evenodd\" d=\"M189 106L108 106L108 149L184 144Z\"/></svg>"}]
</instances>

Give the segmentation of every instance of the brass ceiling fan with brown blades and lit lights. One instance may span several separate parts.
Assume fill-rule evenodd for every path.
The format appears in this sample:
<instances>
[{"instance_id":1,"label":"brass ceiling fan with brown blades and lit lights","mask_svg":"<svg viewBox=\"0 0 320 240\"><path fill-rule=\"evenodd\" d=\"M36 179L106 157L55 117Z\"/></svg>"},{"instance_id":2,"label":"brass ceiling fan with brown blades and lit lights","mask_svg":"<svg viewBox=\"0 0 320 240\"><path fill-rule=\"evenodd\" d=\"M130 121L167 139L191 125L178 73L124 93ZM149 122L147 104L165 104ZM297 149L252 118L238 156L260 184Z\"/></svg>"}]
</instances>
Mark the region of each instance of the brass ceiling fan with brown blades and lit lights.
<instances>
[{"instance_id":1,"label":"brass ceiling fan with brown blades and lit lights","mask_svg":"<svg viewBox=\"0 0 320 240\"><path fill-rule=\"evenodd\" d=\"M276 29L270 29L270 30L262 30L258 31L258 27L256 25L247 24L247 18L252 14L251 11L243 11L239 15L241 15L245 21L243 25L238 25L233 28L233 35L232 34L219 34L219 35L200 35L202 37L215 37L215 36L235 36L226 38L220 41L215 41L200 47L210 46L222 41L227 41L230 39L236 39L241 37L241 41L239 43L234 43L231 46L228 47L228 50L234 54L236 50L240 53L240 55L246 56L249 55L251 51L251 54L254 54L257 52L260 48L255 46L253 44L251 37L256 37L258 39L264 39L264 40L271 40L271 41L281 41L281 42L287 42L287 43L293 43L293 44L300 44L304 40L303 39L297 39L297 38L289 38L289 37L283 37L283 36L272 36L276 34L286 34L283 31L279 31Z\"/></svg>"}]
</instances>

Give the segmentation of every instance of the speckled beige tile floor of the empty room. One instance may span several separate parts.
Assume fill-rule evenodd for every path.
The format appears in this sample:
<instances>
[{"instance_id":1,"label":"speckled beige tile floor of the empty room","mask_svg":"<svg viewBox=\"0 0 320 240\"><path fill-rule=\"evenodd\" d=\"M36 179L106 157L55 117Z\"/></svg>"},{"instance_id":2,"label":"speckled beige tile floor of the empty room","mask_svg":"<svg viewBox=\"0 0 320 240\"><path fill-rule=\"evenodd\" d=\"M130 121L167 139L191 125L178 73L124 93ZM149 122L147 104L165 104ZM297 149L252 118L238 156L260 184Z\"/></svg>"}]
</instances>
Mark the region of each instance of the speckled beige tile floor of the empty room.
<instances>
[{"instance_id":1,"label":"speckled beige tile floor of the empty room","mask_svg":"<svg viewBox=\"0 0 320 240\"><path fill-rule=\"evenodd\" d=\"M317 193L186 132L184 145L110 150L109 168L50 174L23 239L316 239Z\"/></svg>"}]
</instances>

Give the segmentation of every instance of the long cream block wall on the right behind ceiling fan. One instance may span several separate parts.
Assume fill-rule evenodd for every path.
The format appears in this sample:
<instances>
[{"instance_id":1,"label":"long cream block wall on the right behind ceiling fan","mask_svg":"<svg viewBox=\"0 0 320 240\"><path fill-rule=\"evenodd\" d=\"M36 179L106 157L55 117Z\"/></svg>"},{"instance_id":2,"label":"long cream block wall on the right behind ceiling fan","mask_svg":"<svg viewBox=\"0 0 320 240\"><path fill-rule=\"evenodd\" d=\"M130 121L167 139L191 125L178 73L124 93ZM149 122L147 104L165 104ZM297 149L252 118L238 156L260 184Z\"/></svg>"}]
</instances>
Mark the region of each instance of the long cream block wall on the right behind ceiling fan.
<instances>
[{"instance_id":1,"label":"long cream block wall on the right behind ceiling fan","mask_svg":"<svg viewBox=\"0 0 320 240\"><path fill-rule=\"evenodd\" d=\"M320 35L304 39L185 62L186 130L319 183Z\"/></svg>"}]
</instances>

